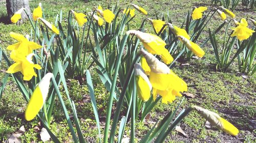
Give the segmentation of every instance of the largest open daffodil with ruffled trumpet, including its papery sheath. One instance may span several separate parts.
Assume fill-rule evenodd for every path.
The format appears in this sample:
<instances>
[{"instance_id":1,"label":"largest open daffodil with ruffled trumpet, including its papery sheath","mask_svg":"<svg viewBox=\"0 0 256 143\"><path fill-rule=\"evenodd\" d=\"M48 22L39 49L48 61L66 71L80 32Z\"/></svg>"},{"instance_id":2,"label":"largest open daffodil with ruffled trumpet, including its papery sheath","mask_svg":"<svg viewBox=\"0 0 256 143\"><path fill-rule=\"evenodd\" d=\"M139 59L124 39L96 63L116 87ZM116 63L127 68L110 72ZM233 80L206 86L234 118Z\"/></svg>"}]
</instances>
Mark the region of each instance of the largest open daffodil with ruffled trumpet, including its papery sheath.
<instances>
[{"instance_id":1,"label":"largest open daffodil with ruffled trumpet, including its papery sheath","mask_svg":"<svg viewBox=\"0 0 256 143\"><path fill-rule=\"evenodd\" d=\"M164 63L160 62L153 54L141 49L140 53L146 59L151 68L150 82L153 87L153 99L157 94L162 97L162 103L173 102L176 96L182 96L180 92L187 91L187 84L170 70Z\"/></svg>"}]
</instances>

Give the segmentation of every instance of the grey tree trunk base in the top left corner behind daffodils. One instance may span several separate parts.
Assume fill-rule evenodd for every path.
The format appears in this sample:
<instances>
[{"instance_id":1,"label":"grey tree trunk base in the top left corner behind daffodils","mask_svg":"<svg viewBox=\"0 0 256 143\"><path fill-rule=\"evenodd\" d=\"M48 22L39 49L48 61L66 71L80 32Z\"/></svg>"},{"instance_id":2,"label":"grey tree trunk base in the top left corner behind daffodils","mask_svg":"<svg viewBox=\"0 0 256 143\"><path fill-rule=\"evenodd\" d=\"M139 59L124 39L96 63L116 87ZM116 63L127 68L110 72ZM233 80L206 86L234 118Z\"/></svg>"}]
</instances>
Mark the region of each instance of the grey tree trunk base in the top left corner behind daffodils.
<instances>
[{"instance_id":1,"label":"grey tree trunk base in the top left corner behind daffodils","mask_svg":"<svg viewBox=\"0 0 256 143\"><path fill-rule=\"evenodd\" d=\"M28 13L29 17L32 18L32 14L29 7L29 1L28 0L6 0L6 9L8 18L11 19L13 14L18 11L21 8L25 8L26 12ZM27 19L26 13L22 12L22 19ZM17 23L22 23L23 20L19 20Z\"/></svg>"}]
</instances>

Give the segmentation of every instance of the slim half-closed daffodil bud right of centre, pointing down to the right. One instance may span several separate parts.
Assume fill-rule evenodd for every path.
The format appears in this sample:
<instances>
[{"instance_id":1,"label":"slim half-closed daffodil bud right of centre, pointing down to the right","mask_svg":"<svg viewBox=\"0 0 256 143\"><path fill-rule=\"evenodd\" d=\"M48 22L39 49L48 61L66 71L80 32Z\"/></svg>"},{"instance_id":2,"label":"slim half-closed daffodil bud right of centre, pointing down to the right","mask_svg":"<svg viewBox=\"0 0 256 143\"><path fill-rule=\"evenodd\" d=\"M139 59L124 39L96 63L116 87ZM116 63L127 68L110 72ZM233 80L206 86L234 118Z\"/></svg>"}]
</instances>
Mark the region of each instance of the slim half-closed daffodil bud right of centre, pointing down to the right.
<instances>
[{"instance_id":1,"label":"slim half-closed daffodil bud right of centre, pointing down to the right","mask_svg":"<svg viewBox=\"0 0 256 143\"><path fill-rule=\"evenodd\" d=\"M199 56L200 58L202 58L204 56L204 50L200 48L200 46L198 46L196 43L186 39L183 36L178 36L181 41L186 45L186 47L192 51L193 53L195 53L197 56Z\"/></svg>"}]
</instances>

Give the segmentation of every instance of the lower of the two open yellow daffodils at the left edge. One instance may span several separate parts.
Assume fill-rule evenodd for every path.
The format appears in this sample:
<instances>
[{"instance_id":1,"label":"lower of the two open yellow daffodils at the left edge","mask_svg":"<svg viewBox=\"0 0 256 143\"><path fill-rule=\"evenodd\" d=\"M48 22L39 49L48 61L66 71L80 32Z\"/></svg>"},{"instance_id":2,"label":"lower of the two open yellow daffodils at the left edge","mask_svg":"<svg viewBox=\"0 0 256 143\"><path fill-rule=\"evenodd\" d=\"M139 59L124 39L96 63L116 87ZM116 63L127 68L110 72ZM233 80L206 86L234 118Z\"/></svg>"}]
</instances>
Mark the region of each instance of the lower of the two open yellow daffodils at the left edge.
<instances>
[{"instance_id":1,"label":"lower of the two open yellow daffodils at the left edge","mask_svg":"<svg viewBox=\"0 0 256 143\"><path fill-rule=\"evenodd\" d=\"M34 53L30 53L29 55L26 56L21 56L18 55L15 56L14 64L12 64L8 70L6 71L7 73L16 73L16 72L21 72L24 77L23 80L30 80L33 76L37 77L37 74L34 71L34 68L40 70L41 67L38 64L34 64L32 62L32 58L35 55Z\"/></svg>"}]
</instances>

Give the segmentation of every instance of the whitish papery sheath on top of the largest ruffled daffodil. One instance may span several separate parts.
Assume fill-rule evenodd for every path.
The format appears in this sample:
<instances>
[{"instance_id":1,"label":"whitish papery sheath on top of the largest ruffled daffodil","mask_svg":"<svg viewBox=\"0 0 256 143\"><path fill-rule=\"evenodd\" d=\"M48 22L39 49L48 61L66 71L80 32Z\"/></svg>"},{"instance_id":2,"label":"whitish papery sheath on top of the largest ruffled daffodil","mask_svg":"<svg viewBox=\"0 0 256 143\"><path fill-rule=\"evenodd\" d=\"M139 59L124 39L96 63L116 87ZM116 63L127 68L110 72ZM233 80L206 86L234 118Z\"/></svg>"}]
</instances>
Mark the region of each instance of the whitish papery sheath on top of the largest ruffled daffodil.
<instances>
[{"instance_id":1,"label":"whitish papery sheath on top of the largest ruffled daffodil","mask_svg":"<svg viewBox=\"0 0 256 143\"><path fill-rule=\"evenodd\" d=\"M155 73L169 74L170 69L162 62L160 62L153 54L140 49L140 53L145 57L147 65L150 66L151 71Z\"/></svg>"}]
</instances>

